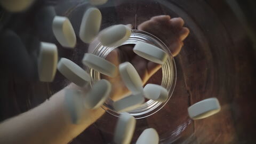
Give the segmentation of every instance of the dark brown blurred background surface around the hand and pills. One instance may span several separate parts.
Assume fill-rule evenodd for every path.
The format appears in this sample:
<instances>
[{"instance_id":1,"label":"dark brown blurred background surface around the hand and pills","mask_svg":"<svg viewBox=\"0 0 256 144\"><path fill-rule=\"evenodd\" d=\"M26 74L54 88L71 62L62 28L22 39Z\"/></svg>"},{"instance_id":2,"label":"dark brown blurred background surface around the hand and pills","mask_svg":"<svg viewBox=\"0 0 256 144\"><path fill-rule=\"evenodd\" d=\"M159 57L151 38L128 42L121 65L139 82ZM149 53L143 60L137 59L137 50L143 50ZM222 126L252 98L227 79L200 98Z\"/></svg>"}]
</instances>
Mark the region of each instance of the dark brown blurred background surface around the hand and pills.
<instances>
[{"instance_id":1,"label":"dark brown blurred background surface around the hand and pills","mask_svg":"<svg viewBox=\"0 0 256 144\"><path fill-rule=\"evenodd\" d=\"M55 15L66 16L78 35L83 13L90 6L85 0L38 0L20 13L0 7L1 122L38 106L68 85L58 71L54 82L38 81L39 42L55 43L59 58L82 66L88 45L77 37L74 50L63 48L52 34L51 22ZM141 22L163 14L181 17L190 29L174 58L177 83L170 101L156 114L137 120L133 142L148 127L157 130L160 143L256 142L256 1L109 0L97 7L102 13L101 29L119 23L137 28ZM12 43L4 37L10 30L20 37L23 47L5 49ZM26 49L27 60L19 59L21 48ZM158 75L161 71L149 81ZM219 99L221 111L191 120L187 108L210 97ZM106 113L70 143L109 143L116 121L117 117Z\"/></svg>"}]
</instances>

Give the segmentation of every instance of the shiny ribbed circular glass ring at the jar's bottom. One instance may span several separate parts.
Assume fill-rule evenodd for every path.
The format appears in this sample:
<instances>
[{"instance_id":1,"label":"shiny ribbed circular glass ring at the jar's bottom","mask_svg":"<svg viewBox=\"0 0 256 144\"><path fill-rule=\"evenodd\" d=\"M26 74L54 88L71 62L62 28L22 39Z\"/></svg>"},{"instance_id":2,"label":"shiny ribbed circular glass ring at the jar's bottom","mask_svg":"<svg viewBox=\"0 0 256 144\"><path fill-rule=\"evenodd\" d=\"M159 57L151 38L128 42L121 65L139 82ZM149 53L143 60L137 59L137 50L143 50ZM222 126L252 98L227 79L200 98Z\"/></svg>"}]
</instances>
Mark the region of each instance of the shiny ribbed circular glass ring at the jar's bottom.
<instances>
[{"instance_id":1,"label":"shiny ribbed circular glass ring at the jar's bottom","mask_svg":"<svg viewBox=\"0 0 256 144\"><path fill-rule=\"evenodd\" d=\"M162 50L164 50L169 55L166 62L162 65L163 77L162 77L162 83L161 83L161 85L165 87L165 89L168 91L169 98L165 102L148 100L147 102L143 103L139 108L134 109L132 111L127 111L132 116L134 116L135 119L140 119L140 118L145 118L155 114L157 111L162 109L166 105L166 103L170 100L172 93L174 91L176 80L177 80L177 70L176 70L175 61L168 47L156 36L149 34L146 31L132 29L130 38L127 39L127 41L121 45L137 44L137 42L146 42L146 43L153 44L161 48ZM116 48L117 47L103 46L101 43L98 43L98 45L95 47L92 53L105 59L107 55ZM95 71L89 67L86 67L85 70L90 74L90 76L93 79L93 81L91 81L90 83L91 86L95 81L100 80L100 73L98 73L98 71ZM109 113L110 115L119 117L119 113L114 110L114 108L112 107L112 103L113 103L113 100L109 98L106 100L102 108L106 110L107 113Z\"/></svg>"}]
</instances>

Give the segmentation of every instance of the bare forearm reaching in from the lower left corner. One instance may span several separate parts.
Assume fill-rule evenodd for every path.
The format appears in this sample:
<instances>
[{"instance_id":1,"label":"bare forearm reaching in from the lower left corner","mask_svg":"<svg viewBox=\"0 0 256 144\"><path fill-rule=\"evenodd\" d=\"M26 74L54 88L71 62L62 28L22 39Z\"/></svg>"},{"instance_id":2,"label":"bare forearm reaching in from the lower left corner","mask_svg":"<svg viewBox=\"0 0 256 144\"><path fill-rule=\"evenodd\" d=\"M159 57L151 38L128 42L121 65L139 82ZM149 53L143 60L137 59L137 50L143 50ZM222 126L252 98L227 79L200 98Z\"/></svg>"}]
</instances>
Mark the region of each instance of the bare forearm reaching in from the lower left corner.
<instances>
[{"instance_id":1,"label":"bare forearm reaching in from the lower left corner","mask_svg":"<svg viewBox=\"0 0 256 144\"><path fill-rule=\"evenodd\" d=\"M72 87L72 86L71 86ZM72 124L65 89L50 100L0 124L0 143L68 143L104 114L102 108L85 110L80 124Z\"/></svg>"}]
</instances>

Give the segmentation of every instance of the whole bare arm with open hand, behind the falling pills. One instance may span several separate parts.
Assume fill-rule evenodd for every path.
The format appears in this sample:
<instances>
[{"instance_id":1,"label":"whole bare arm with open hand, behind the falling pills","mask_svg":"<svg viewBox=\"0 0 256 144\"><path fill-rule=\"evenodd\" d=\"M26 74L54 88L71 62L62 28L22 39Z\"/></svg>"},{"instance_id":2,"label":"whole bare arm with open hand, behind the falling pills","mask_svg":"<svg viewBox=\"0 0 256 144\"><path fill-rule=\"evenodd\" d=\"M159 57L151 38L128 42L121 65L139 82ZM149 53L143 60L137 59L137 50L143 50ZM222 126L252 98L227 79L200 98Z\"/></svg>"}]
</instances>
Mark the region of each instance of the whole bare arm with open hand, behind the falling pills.
<instances>
[{"instance_id":1,"label":"whole bare arm with open hand, behind the falling pills","mask_svg":"<svg viewBox=\"0 0 256 144\"><path fill-rule=\"evenodd\" d=\"M175 56L181 50L182 41L189 34L189 30L183 27L183 24L184 21L181 18L171 19L168 15L160 15L141 23L138 29L145 30L162 39ZM163 34L159 33L159 28L162 29ZM90 47L93 47L93 43ZM131 51L131 48L132 45L122 46L120 49L112 51L107 59L118 66L120 61L119 54L125 53L125 57L131 60L143 83L146 83L150 76L161 67L156 63L138 57ZM111 98L114 100L129 93L125 86L121 85L122 81L119 75L115 78L104 78L108 79L113 85ZM84 109L81 122L79 124L71 123L70 115L65 105L66 89L87 92L87 89L82 89L71 83L38 107L7 119L0 124L0 143L68 143L105 113L105 110L101 108L94 110Z\"/></svg>"}]
</instances>

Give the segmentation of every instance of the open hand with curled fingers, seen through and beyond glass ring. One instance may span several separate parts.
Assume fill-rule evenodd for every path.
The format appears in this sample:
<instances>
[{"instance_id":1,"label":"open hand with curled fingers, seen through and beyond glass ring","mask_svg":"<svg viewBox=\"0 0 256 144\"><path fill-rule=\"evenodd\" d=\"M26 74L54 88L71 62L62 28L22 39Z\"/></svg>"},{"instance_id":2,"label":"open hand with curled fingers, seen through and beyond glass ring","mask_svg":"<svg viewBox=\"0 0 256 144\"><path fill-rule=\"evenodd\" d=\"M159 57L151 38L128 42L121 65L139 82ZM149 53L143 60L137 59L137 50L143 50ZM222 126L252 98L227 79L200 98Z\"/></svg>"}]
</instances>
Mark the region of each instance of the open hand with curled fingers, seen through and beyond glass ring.
<instances>
[{"instance_id":1,"label":"open hand with curled fingers, seen through and beyond glass ring","mask_svg":"<svg viewBox=\"0 0 256 144\"><path fill-rule=\"evenodd\" d=\"M183 46L183 40L189 34L189 29L183 27L183 25L184 21L181 18L171 19L169 15L159 15L141 23L138 26L138 29L147 31L161 39L166 46L169 47L169 50L175 57ZM161 31L158 29L161 29ZM126 59L130 60L134 68L137 70L143 84L145 84L148 79L161 68L161 65L143 59L139 55L135 54L132 51L133 45L124 45L118 48L119 49L111 51L109 55L107 55L106 59L118 67L118 65L122 63L120 55L122 55L122 57L126 57ZM114 87L111 94L111 98L113 100L121 99L130 93L122 82L119 73L114 78L104 75L102 75L102 78L107 79Z\"/></svg>"}]
</instances>

